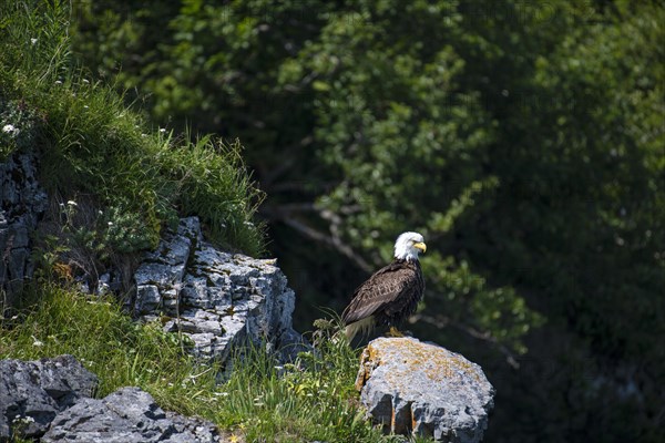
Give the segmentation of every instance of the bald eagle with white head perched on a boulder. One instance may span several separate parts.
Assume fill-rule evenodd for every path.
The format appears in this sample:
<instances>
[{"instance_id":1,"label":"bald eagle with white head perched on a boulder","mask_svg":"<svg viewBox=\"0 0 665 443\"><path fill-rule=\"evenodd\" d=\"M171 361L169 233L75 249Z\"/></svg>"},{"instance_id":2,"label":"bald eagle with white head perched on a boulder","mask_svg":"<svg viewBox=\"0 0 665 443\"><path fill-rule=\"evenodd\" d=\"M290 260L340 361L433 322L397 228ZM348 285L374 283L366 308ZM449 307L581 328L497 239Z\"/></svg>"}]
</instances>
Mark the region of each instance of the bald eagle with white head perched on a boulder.
<instances>
[{"instance_id":1,"label":"bald eagle with white head perched on a boulder","mask_svg":"<svg viewBox=\"0 0 665 443\"><path fill-rule=\"evenodd\" d=\"M396 324L416 311L424 292L418 254L426 249L418 233L403 233L397 238L392 262L356 289L354 299L341 315L349 341L358 331L375 326L389 326L395 333Z\"/></svg>"}]
</instances>

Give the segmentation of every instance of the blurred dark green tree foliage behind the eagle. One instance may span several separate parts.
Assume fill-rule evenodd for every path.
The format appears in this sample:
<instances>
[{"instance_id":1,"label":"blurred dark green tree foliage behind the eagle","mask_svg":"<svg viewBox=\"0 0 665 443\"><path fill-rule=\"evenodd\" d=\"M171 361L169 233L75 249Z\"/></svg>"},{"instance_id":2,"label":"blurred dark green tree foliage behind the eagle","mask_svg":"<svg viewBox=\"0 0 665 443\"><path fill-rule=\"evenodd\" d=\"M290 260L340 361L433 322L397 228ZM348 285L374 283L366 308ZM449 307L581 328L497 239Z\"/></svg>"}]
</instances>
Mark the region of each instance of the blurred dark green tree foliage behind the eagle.
<instances>
[{"instance_id":1,"label":"blurred dark green tree foliage behind the eagle","mask_svg":"<svg viewBox=\"0 0 665 443\"><path fill-rule=\"evenodd\" d=\"M300 330L418 230L408 328L488 372L485 441L664 441L661 2L73 8L74 53L155 124L246 146Z\"/></svg>"}]
</instances>

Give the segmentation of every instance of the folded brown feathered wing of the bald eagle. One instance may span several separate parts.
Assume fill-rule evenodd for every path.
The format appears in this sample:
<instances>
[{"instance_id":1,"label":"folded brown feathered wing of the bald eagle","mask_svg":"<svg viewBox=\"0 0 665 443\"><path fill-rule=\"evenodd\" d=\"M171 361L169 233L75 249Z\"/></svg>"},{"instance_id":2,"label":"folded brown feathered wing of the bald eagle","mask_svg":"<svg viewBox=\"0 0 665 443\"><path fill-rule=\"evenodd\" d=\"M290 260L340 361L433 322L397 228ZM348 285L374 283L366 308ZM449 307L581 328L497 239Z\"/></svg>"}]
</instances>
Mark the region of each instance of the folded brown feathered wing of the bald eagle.
<instances>
[{"instance_id":1,"label":"folded brown feathered wing of the bald eagle","mask_svg":"<svg viewBox=\"0 0 665 443\"><path fill-rule=\"evenodd\" d=\"M396 264L379 269L356 289L354 299L341 315L341 320L349 324L371 316L395 301L417 279L412 268Z\"/></svg>"}]
</instances>

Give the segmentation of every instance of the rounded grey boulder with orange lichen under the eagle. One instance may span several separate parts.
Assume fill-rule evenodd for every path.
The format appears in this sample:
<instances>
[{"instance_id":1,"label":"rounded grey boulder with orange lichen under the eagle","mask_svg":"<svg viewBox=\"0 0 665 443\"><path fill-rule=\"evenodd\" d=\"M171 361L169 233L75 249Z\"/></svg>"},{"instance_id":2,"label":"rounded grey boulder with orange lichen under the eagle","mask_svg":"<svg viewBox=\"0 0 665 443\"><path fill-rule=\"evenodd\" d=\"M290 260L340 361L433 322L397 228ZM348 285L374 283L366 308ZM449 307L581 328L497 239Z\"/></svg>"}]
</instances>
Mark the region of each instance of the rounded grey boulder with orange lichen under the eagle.
<instances>
[{"instance_id":1,"label":"rounded grey boulder with orange lichen under the eagle","mask_svg":"<svg viewBox=\"0 0 665 443\"><path fill-rule=\"evenodd\" d=\"M415 338L371 341L356 388L385 431L441 442L480 442L493 408L494 389L478 364Z\"/></svg>"}]
</instances>

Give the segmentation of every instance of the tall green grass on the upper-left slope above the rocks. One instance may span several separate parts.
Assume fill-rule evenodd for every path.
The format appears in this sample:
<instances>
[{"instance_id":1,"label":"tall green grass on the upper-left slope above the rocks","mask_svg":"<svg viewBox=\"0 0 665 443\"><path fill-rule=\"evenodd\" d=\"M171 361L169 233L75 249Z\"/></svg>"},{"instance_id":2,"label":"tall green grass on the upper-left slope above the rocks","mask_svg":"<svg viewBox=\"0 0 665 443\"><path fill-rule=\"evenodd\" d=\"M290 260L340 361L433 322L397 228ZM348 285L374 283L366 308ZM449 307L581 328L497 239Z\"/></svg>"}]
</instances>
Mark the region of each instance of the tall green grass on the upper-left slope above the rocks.
<instances>
[{"instance_id":1,"label":"tall green grass on the upper-left slope above the rocks","mask_svg":"<svg viewBox=\"0 0 665 443\"><path fill-rule=\"evenodd\" d=\"M105 245L119 253L154 247L177 216L198 215L209 239L260 255L253 217L263 194L239 143L150 127L112 85L73 64L69 14L66 1L0 4L0 128L16 128L0 132L0 161L37 150L53 199L123 214L126 235Z\"/></svg>"}]
</instances>

